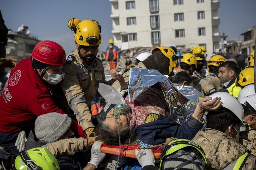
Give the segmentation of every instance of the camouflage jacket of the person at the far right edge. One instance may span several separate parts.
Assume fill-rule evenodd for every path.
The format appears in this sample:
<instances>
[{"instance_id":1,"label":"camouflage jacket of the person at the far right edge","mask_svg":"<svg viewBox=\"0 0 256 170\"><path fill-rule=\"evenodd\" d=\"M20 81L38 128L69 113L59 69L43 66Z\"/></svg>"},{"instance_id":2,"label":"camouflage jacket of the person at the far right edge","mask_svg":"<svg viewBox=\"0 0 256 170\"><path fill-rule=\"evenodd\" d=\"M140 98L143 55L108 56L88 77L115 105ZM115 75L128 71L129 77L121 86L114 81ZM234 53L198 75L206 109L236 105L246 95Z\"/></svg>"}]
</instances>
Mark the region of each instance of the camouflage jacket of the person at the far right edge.
<instances>
[{"instance_id":1,"label":"camouflage jacket of the person at the far right edge","mask_svg":"<svg viewBox=\"0 0 256 170\"><path fill-rule=\"evenodd\" d=\"M240 132L240 143L247 149L251 150L253 155L256 155L256 130L250 125L245 125L246 130Z\"/></svg>"}]
</instances>

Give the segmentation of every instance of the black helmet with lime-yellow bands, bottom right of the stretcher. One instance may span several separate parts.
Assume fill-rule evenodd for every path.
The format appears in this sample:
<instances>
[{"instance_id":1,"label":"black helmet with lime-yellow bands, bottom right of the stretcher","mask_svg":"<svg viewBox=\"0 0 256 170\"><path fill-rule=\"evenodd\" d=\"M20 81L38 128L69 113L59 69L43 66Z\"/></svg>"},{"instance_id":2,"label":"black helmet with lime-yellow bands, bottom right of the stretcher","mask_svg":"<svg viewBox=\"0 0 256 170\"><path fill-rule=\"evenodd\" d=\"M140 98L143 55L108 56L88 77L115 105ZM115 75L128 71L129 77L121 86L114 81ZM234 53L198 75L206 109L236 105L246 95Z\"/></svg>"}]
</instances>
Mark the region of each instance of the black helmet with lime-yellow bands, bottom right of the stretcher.
<instances>
[{"instance_id":1,"label":"black helmet with lime-yellow bands, bottom right of the stretcher","mask_svg":"<svg viewBox=\"0 0 256 170\"><path fill-rule=\"evenodd\" d=\"M172 159L181 157L182 155L186 155L187 159L185 159L184 162L179 162L178 166L181 166L181 164L183 164L183 166L179 168L182 168L190 163L193 163L197 167L197 169L201 169L200 166L202 167L202 169L205 169L205 167L207 166L205 153L201 146L196 145L192 141L186 139L178 139L170 142L168 146L166 146L162 150L160 158L160 170L165 169L166 164L172 165ZM197 162L195 161L196 159L198 160ZM197 163L199 163L200 166ZM175 167L173 168L175 169Z\"/></svg>"}]
</instances>

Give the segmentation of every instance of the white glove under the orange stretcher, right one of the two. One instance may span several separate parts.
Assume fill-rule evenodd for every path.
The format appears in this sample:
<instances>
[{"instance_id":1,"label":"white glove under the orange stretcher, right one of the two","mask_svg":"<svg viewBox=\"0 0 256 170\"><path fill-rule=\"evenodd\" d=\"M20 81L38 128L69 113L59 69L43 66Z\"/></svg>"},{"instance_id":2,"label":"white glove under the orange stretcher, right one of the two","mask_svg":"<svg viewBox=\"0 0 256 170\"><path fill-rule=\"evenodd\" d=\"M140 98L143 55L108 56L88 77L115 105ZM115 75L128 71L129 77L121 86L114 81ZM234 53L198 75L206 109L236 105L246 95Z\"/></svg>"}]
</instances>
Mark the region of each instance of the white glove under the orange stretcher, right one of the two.
<instances>
[{"instance_id":1,"label":"white glove under the orange stretcher, right one of the two","mask_svg":"<svg viewBox=\"0 0 256 170\"><path fill-rule=\"evenodd\" d=\"M155 157L151 149L135 149L135 155L141 167L147 165L155 166Z\"/></svg>"}]
</instances>

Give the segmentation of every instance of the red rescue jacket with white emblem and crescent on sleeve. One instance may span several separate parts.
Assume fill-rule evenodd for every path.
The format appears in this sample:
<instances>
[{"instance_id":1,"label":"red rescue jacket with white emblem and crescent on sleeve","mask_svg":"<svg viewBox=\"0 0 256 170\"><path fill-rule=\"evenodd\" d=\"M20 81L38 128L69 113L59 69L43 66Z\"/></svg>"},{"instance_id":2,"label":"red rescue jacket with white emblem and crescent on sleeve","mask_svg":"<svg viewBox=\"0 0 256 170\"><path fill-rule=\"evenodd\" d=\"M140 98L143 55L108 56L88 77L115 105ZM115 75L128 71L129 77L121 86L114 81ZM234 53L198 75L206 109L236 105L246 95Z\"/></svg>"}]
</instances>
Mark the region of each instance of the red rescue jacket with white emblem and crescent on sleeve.
<instances>
[{"instance_id":1,"label":"red rescue jacket with white emblem and crescent on sleeve","mask_svg":"<svg viewBox=\"0 0 256 170\"><path fill-rule=\"evenodd\" d=\"M0 131L4 133L34 129L36 117L58 112L50 88L34 71L30 58L12 70L0 96Z\"/></svg>"}]
</instances>

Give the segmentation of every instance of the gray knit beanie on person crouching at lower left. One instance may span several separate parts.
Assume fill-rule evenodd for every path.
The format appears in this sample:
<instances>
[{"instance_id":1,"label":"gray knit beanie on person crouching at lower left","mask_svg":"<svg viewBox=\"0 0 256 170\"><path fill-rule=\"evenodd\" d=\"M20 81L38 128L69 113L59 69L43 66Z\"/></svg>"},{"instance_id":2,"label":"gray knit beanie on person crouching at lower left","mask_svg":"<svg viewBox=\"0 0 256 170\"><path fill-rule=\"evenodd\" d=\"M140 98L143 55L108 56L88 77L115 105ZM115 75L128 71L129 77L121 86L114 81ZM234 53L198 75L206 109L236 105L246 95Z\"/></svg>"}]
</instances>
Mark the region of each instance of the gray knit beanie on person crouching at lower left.
<instances>
[{"instance_id":1,"label":"gray knit beanie on person crouching at lower left","mask_svg":"<svg viewBox=\"0 0 256 170\"><path fill-rule=\"evenodd\" d=\"M68 115L52 112L39 116L35 121L35 135L39 141L55 142L70 128Z\"/></svg>"}]
</instances>

